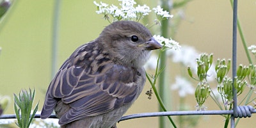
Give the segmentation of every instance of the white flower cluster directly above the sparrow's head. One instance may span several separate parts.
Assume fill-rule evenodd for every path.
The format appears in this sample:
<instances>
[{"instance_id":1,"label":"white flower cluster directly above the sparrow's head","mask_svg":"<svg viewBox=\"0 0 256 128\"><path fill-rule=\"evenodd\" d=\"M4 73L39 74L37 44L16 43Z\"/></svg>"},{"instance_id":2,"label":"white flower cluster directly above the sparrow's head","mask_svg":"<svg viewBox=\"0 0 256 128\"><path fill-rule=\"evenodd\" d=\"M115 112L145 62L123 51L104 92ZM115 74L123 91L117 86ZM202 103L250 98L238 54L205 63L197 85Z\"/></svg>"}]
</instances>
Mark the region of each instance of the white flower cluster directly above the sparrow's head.
<instances>
[{"instance_id":1,"label":"white flower cluster directly above the sparrow's head","mask_svg":"<svg viewBox=\"0 0 256 128\"><path fill-rule=\"evenodd\" d=\"M154 12L157 15L157 20L163 20L163 19L168 19L172 18L173 15L170 15L169 12L163 11L163 8L160 6L157 6L156 8L150 8L146 5L143 4L142 6L138 4L138 6L135 6L137 4L134 0L118 0L121 1L120 3L120 8L115 5L109 6L106 3L97 3L96 1L93 1L93 3L97 6L97 11L96 13L98 14L103 14L104 19L109 20L109 15L113 17L113 21L115 22L116 20L136 20L139 21L141 18L143 18L145 15L148 15L148 13ZM109 20L109 22L111 22Z\"/></svg>"}]
</instances>

